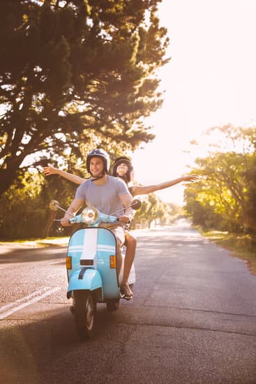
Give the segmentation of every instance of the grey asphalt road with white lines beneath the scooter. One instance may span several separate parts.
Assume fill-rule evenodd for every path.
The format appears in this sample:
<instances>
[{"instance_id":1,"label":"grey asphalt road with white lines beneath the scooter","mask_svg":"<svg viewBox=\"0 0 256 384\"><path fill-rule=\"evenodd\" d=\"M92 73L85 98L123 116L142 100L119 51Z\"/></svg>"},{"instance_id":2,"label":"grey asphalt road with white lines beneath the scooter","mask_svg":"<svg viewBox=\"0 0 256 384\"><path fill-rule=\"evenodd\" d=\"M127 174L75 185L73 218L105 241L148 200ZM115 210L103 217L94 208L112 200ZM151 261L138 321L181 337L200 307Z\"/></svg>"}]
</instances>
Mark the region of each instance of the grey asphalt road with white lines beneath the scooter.
<instances>
[{"instance_id":1,"label":"grey asphalt road with white lines beneath the scooter","mask_svg":"<svg viewBox=\"0 0 256 384\"><path fill-rule=\"evenodd\" d=\"M256 276L186 225L138 231L134 299L81 343L65 247L0 255L0 383L256 383Z\"/></svg>"}]
</instances>

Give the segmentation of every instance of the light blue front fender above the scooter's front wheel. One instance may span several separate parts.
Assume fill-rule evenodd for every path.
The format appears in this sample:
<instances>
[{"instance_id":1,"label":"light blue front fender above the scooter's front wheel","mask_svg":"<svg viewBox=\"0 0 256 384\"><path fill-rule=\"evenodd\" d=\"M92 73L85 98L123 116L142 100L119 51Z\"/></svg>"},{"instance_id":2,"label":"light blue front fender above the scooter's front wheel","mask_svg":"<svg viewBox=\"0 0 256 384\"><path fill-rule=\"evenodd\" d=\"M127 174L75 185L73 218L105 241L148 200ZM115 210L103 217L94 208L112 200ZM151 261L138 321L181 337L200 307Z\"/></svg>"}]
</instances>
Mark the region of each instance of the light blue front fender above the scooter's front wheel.
<instances>
[{"instance_id":1,"label":"light blue front fender above the scooter's front wheel","mask_svg":"<svg viewBox=\"0 0 256 384\"><path fill-rule=\"evenodd\" d=\"M103 298L103 281L96 269L81 268L70 275L67 297L70 299L73 290L96 290L100 288Z\"/></svg>"}]
</instances>

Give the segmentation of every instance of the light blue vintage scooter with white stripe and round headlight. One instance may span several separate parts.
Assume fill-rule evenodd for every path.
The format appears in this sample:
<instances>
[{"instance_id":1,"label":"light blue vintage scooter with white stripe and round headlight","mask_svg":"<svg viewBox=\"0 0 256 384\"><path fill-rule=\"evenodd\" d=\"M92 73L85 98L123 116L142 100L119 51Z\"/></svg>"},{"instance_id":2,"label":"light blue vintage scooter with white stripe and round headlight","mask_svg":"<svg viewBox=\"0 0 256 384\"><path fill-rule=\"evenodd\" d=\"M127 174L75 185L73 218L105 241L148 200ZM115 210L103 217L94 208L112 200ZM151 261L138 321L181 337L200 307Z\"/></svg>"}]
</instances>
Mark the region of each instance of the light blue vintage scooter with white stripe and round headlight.
<instances>
[{"instance_id":1,"label":"light blue vintage scooter with white stripe and round headlight","mask_svg":"<svg viewBox=\"0 0 256 384\"><path fill-rule=\"evenodd\" d=\"M135 199L129 207L139 209L140 206L140 200ZM50 202L50 208L66 212L59 206L57 200ZM116 238L111 230L100 228L100 223L119 223L116 216L103 214L95 207L86 207L81 214L70 217L68 221L72 224L85 223L87 226L71 235L66 256L67 297L73 298L75 327L80 340L84 341L93 336L97 303L105 303L108 311L119 309L119 302L123 297L120 292L120 283L125 253L123 249L122 266L118 275ZM131 268L128 283L130 288L133 288L134 265Z\"/></svg>"}]
</instances>

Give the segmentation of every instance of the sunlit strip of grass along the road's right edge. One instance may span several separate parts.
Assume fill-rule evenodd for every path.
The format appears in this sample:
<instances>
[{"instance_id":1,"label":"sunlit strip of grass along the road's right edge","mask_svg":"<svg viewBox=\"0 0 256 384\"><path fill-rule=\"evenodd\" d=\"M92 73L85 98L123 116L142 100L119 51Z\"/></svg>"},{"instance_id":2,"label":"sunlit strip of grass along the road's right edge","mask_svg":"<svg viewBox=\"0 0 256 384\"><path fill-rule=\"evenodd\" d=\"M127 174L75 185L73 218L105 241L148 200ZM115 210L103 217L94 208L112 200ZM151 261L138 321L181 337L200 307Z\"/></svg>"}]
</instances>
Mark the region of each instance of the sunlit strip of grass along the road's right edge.
<instances>
[{"instance_id":1,"label":"sunlit strip of grass along the road's right edge","mask_svg":"<svg viewBox=\"0 0 256 384\"><path fill-rule=\"evenodd\" d=\"M197 228L202 236L232 251L231 255L246 261L251 274L256 275L256 237L217 230L204 231Z\"/></svg>"}]
</instances>

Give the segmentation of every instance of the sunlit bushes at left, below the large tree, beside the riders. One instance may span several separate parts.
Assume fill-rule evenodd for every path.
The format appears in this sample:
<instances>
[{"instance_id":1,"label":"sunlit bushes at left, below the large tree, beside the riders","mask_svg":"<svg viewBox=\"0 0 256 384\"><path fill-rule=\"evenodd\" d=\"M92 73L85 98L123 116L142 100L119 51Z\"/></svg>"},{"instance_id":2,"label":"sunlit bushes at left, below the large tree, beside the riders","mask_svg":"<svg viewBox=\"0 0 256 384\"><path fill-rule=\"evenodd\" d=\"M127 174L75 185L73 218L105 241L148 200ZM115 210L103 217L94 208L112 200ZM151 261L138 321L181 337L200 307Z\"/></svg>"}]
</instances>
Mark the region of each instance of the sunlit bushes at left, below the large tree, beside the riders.
<instances>
[{"instance_id":1,"label":"sunlit bushes at left, below the large tree, beside the riders","mask_svg":"<svg viewBox=\"0 0 256 384\"><path fill-rule=\"evenodd\" d=\"M58 200L67 208L73 200L75 184L61 177L45 177L35 170L21 173L17 181L0 198L0 239L27 239L45 236L50 214L50 200ZM63 212L57 212L61 218ZM55 222L50 235L68 235L70 228Z\"/></svg>"}]
</instances>

